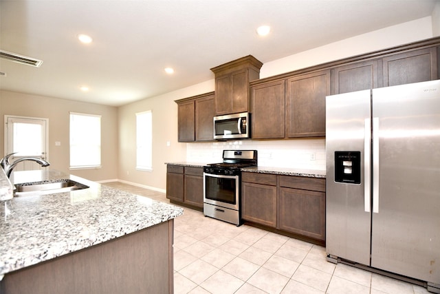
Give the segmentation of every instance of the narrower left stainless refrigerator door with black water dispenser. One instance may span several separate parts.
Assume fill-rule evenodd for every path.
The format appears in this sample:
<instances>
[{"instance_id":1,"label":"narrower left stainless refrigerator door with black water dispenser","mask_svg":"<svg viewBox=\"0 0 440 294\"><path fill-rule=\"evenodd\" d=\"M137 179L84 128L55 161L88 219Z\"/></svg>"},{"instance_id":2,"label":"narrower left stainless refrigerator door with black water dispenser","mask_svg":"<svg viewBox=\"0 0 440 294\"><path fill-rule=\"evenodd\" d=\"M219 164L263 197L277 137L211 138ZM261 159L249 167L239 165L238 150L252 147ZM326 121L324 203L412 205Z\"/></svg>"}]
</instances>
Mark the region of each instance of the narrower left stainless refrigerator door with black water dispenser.
<instances>
[{"instance_id":1,"label":"narrower left stainless refrigerator door with black water dispenser","mask_svg":"<svg viewBox=\"0 0 440 294\"><path fill-rule=\"evenodd\" d=\"M371 91L326 99L327 254L369 265Z\"/></svg>"}]
</instances>

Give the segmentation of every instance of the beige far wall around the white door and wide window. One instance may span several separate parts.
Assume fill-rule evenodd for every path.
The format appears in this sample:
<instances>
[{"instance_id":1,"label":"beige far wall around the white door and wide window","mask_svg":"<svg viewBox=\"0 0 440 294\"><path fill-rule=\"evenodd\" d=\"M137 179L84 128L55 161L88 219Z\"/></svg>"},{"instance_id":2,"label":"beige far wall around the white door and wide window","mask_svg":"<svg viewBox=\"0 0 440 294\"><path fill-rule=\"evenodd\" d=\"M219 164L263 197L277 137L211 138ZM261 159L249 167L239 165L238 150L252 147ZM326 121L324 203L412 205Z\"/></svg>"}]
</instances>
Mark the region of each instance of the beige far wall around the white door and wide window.
<instances>
[{"instance_id":1,"label":"beige far wall around the white door and wide window","mask_svg":"<svg viewBox=\"0 0 440 294\"><path fill-rule=\"evenodd\" d=\"M69 112L101 116L101 165L99 169L69 170ZM0 117L5 114L49 119L48 158L50 169L89 180L118 178L118 109L61 98L0 91ZM4 154L4 130L0 128L0 154ZM55 145L60 142L61 145Z\"/></svg>"}]
</instances>

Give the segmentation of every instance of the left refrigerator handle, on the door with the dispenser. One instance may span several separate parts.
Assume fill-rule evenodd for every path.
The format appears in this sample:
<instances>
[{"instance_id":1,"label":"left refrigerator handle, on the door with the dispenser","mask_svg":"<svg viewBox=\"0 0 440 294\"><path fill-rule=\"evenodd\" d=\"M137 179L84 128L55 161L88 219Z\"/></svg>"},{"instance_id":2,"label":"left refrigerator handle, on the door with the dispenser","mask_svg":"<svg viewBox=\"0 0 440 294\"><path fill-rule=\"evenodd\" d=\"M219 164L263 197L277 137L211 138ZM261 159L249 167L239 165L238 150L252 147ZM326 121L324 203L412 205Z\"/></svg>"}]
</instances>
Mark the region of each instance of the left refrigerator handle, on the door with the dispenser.
<instances>
[{"instance_id":1,"label":"left refrigerator handle, on the door with the dispenser","mask_svg":"<svg viewBox=\"0 0 440 294\"><path fill-rule=\"evenodd\" d=\"M364 122L364 211L370 212L371 207L371 120Z\"/></svg>"}]
</instances>

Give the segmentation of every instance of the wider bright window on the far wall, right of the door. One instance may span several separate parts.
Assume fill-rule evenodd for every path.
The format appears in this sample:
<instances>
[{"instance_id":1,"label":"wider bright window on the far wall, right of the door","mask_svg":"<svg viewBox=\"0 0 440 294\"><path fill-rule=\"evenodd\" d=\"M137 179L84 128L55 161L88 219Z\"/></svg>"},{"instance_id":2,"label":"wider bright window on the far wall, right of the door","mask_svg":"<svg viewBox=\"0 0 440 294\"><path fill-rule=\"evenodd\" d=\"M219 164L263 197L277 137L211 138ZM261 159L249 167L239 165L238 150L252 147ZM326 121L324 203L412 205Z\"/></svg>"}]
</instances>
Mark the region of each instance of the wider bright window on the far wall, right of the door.
<instances>
[{"instance_id":1,"label":"wider bright window on the far wall, right of the door","mask_svg":"<svg viewBox=\"0 0 440 294\"><path fill-rule=\"evenodd\" d=\"M101 166L101 116L70 113L70 168Z\"/></svg>"}]
</instances>

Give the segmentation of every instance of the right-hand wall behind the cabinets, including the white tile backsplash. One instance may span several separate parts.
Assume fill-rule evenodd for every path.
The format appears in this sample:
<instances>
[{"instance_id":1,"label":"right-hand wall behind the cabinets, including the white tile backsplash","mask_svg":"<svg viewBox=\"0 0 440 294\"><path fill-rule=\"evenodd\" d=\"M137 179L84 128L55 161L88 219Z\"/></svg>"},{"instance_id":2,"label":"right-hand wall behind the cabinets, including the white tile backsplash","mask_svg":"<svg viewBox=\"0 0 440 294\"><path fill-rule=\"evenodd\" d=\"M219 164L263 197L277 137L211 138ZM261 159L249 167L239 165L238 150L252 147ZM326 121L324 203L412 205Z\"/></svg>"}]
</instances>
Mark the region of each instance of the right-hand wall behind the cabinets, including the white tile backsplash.
<instances>
[{"instance_id":1,"label":"right-hand wall behind the cabinets, including the white tile backsplash","mask_svg":"<svg viewBox=\"0 0 440 294\"><path fill-rule=\"evenodd\" d=\"M433 23L431 17L424 17L267 62L261 68L260 76L265 78L328 61L428 39L433 36ZM258 59L258 56L255 57ZM325 169L324 139L177 143L177 105L174 101L213 90L214 80L212 79L192 87L120 107L119 178L164 190L166 189L164 162L218 162L221 160L223 149L257 149L259 150L259 165L262 166ZM154 170L151 172L135 171L135 113L148 109L153 109ZM170 141L170 147L166 147L167 140ZM314 160L311 159L312 156L315 157Z\"/></svg>"}]
</instances>

